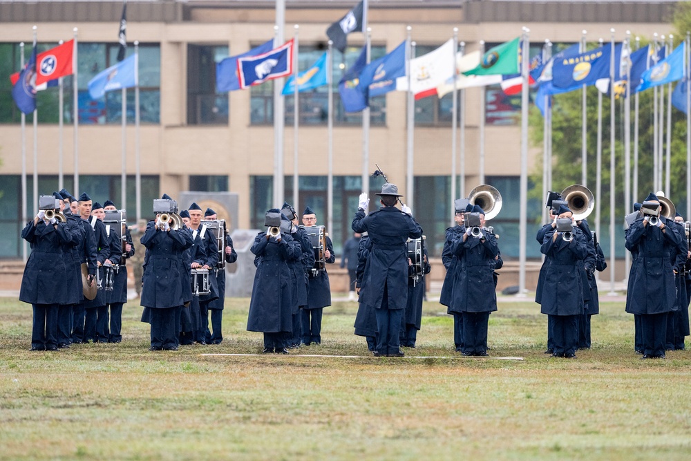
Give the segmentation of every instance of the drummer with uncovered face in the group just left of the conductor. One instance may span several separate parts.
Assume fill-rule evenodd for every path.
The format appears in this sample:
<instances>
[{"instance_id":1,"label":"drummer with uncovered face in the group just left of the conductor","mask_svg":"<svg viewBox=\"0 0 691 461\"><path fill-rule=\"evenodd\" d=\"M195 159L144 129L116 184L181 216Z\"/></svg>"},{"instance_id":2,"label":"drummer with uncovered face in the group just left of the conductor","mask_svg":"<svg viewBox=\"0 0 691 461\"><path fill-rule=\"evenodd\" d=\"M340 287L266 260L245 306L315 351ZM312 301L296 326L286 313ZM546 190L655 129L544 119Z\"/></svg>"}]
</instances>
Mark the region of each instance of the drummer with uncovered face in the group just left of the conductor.
<instances>
[{"instance_id":1,"label":"drummer with uncovered face in the group just left of the conductor","mask_svg":"<svg viewBox=\"0 0 691 461\"><path fill-rule=\"evenodd\" d=\"M312 208L305 208L302 222L305 227L316 226L316 214ZM326 237L324 256L327 264L336 262L334 244L329 236ZM307 346L312 343L321 344L321 315L323 308L331 305L331 285L326 268L316 272L310 270L309 276L310 288L307 290L307 305L303 308L302 313L303 343Z\"/></svg>"}]
</instances>

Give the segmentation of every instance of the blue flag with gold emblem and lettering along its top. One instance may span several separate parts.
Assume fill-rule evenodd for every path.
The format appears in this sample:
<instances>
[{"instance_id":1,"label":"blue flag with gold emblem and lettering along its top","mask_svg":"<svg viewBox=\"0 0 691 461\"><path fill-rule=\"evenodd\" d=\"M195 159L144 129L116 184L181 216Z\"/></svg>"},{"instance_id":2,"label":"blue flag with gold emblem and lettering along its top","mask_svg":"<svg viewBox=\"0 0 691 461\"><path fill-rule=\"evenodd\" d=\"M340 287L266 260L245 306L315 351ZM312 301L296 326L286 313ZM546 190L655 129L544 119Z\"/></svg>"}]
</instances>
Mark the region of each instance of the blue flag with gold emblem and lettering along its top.
<instances>
[{"instance_id":1,"label":"blue flag with gold emblem and lettering along its top","mask_svg":"<svg viewBox=\"0 0 691 461\"><path fill-rule=\"evenodd\" d=\"M621 59L621 49L622 44L614 47L614 62ZM571 88L575 85L594 85L598 79L608 79L611 57L612 46L608 44L556 59L552 66L552 84L556 88Z\"/></svg>"}]
</instances>

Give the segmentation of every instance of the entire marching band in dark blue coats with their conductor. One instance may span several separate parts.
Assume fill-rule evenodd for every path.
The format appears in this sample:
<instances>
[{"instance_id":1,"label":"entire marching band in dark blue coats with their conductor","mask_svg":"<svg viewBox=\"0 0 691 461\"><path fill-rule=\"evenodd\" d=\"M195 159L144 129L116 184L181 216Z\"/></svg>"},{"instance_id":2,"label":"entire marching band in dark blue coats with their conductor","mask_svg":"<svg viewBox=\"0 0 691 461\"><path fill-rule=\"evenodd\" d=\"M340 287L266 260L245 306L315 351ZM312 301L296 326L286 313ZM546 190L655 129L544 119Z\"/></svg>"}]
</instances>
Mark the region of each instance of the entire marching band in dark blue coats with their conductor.
<instances>
[{"instance_id":1,"label":"entire marching band in dark blue coats with their conductor","mask_svg":"<svg viewBox=\"0 0 691 461\"><path fill-rule=\"evenodd\" d=\"M422 323L426 237L396 185L387 180L375 195L381 207L368 213L368 194L361 194L351 225L357 241L348 259L356 267L351 278L359 303L354 333L366 337L376 357L402 357L401 348L415 348ZM455 350L484 357L489 316L497 310L495 271L503 265L499 236L486 221L499 214L502 196L480 185L454 205L439 303L453 315ZM550 191L546 205L549 222L536 235L545 258L535 301L547 315L545 352L574 359L591 347L591 317L599 313L594 274L607 263L587 223L594 207L587 188ZM38 214L21 233L32 249L19 293L33 308L31 350L122 341L127 268L138 265L151 350L223 341L225 265L238 258L225 220L196 203L180 211L167 194L154 200L153 214L145 227L140 223L145 251L135 252L126 212L110 200L102 206L65 189L39 198ZM251 247L256 274L247 330L263 333L264 353L321 344L322 312L331 304L327 265L336 254L313 209L305 208L301 222L289 203L269 209L267 230ZM665 358L665 350L684 349L689 335L691 224L658 192L634 204L625 227L632 254L625 309L634 314L635 352ZM135 257L141 263L128 265Z\"/></svg>"}]
</instances>

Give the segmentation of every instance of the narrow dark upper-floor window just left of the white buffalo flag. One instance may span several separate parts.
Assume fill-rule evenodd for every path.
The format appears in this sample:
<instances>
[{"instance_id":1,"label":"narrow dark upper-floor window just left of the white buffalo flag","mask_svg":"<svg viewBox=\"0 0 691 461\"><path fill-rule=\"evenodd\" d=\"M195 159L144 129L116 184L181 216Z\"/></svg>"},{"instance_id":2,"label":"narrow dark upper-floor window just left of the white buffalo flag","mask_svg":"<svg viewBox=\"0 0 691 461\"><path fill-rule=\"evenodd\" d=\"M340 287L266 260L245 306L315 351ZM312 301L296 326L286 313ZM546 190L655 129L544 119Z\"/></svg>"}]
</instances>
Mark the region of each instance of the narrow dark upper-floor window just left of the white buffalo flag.
<instances>
[{"instance_id":1,"label":"narrow dark upper-floor window just left of the white buffalo flag","mask_svg":"<svg viewBox=\"0 0 691 461\"><path fill-rule=\"evenodd\" d=\"M187 45L187 124L228 124L228 93L216 93L216 63L228 46Z\"/></svg>"}]
</instances>

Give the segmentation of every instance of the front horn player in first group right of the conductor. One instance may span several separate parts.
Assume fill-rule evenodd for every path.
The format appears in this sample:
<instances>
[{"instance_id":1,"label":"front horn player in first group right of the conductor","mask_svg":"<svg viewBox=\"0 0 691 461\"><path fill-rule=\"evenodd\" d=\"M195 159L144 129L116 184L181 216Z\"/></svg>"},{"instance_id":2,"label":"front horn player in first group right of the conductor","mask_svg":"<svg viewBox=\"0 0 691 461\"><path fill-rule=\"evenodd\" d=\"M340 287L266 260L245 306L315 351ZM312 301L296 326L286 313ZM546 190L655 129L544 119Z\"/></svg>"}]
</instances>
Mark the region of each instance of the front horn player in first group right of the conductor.
<instances>
[{"instance_id":1,"label":"front horn player in first group right of the conductor","mask_svg":"<svg viewBox=\"0 0 691 461\"><path fill-rule=\"evenodd\" d=\"M463 355L486 356L489 313L497 310L493 273L499 246L494 234L482 229L482 208L468 205L466 210L480 214L481 228L479 236L466 228L451 244L460 265L460 276L453 283L453 307L463 314Z\"/></svg>"}]
</instances>

